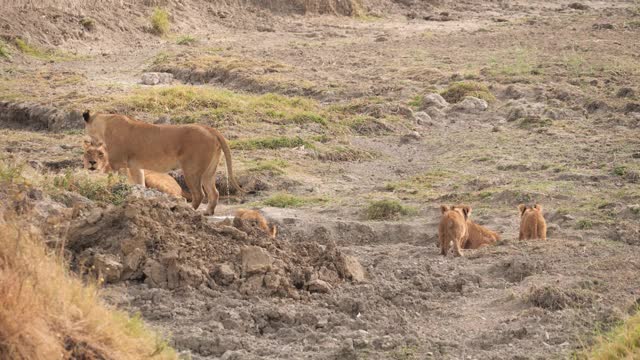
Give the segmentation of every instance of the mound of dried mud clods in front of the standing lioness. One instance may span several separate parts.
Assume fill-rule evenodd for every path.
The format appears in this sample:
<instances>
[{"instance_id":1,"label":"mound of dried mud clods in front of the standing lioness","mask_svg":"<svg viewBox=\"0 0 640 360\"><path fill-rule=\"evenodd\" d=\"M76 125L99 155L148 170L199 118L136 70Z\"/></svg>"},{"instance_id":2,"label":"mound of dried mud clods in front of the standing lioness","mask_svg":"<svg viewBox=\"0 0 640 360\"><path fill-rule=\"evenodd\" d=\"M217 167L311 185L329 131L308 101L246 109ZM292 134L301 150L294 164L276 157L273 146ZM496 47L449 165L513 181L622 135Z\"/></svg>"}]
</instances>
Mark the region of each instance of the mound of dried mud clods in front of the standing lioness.
<instances>
[{"instance_id":1,"label":"mound of dried mud clods in front of the standing lioness","mask_svg":"<svg viewBox=\"0 0 640 360\"><path fill-rule=\"evenodd\" d=\"M215 223L185 202L136 189L122 207L96 209L69 230L79 270L105 282L151 287L232 287L243 294L298 298L296 290L329 292L345 280L364 281L358 261L334 244L271 239L231 221Z\"/></svg>"}]
</instances>

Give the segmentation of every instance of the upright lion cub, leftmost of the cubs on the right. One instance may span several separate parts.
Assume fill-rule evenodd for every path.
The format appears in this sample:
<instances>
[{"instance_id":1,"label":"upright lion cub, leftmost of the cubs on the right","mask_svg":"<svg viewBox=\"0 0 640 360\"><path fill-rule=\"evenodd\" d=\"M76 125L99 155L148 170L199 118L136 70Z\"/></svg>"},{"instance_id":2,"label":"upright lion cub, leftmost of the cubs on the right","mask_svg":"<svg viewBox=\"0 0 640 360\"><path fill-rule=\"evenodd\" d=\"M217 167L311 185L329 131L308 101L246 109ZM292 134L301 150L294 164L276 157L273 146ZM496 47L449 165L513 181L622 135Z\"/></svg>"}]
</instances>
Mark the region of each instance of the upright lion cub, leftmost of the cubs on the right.
<instances>
[{"instance_id":1,"label":"upright lion cub, leftmost of the cubs on the right","mask_svg":"<svg viewBox=\"0 0 640 360\"><path fill-rule=\"evenodd\" d=\"M467 219L471 214L471 208L466 205L440 205L442 218L438 226L438 240L440 241L440 254L447 256L449 243L453 241L453 253L462 256L462 247L467 241L469 230Z\"/></svg>"}]
</instances>

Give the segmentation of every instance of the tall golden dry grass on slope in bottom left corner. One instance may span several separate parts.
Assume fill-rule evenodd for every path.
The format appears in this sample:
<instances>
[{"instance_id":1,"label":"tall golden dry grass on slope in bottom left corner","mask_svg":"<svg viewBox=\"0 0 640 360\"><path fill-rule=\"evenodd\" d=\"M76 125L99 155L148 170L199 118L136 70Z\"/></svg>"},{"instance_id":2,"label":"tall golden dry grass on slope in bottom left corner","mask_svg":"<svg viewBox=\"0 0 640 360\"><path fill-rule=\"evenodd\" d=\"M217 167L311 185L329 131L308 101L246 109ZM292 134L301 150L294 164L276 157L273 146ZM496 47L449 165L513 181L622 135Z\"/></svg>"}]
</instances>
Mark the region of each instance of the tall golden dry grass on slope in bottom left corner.
<instances>
[{"instance_id":1,"label":"tall golden dry grass on slope in bottom left corner","mask_svg":"<svg viewBox=\"0 0 640 360\"><path fill-rule=\"evenodd\" d=\"M138 317L107 308L95 286L83 285L41 239L6 220L0 224L1 359L177 358Z\"/></svg>"}]
</instances>

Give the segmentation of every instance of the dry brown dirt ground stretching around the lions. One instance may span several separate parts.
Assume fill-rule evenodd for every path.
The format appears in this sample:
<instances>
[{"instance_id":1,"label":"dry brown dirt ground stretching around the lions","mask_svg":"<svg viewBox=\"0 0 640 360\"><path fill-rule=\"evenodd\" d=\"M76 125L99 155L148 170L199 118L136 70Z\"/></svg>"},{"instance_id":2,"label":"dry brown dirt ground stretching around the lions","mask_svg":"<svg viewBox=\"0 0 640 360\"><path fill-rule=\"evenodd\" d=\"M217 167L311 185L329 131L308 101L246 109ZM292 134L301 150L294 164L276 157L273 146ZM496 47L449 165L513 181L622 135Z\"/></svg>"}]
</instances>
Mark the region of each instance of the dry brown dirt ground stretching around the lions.
<instances>
[{"instance_id":1,"label":"dry brown dirt ground stretching around the lions","mask_svg":"<svg viewBox=\"0 0 640 360\"><path fill-rule=\"evenodd\" d=\"M76 270L96 252L126 267L131 239L153 261L108 281L107 302L139 312L193 359L569 358L637 305L637 3L378 0L356 16L256 3L167 2L164 37L148 31L153 7L137 3L0 10L11 51L0 57L2 160L29 172L81 172L85 108L173 123L192 116L234 141L319 139L234 148L238 174L250 178L243 185L256 191L222 190L210 219L153 192L117 206L86 200L64 235ZM91 30L80 24L86 17ZM196 40L178 45L183 35ZM16 37L57 52L20 52ZM174 80L141 84L148 71ZM494 98L430 95L460 81L484 84ZM160 93L145 98L157 107L126 101L176 86L297 96L330 124L215 117L196 106L178 113ZM253 172L265 163L279 165ZM282 192L306 202L269 206ZM367 205L387 198L415 214L367 220ZM517 240L523 202L543 205L547 241ZM443 203L469 204L472 219L503 240L442 257ZM239 206L261 208L278 240L217 224ZM230 245L199 245L212 241ZM184 251L171 257L162 244ZM247 276L241 245L284 265ZM341 270L347 257L364 279ZM173 261L184 266L175 281ZM324 280L309 287L314 279Z\"/></svg>"}]
</instances>

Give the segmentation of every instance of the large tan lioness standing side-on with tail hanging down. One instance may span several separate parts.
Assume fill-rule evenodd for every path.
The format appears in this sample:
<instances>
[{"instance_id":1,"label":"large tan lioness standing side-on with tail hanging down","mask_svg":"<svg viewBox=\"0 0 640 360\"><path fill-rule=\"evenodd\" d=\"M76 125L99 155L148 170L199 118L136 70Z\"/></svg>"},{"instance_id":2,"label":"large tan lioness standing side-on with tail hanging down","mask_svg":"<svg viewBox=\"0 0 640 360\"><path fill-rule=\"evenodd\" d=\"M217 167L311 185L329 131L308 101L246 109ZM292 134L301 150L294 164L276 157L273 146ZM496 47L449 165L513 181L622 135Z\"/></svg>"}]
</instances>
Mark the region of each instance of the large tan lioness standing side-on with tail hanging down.
<instances>
[{"instance_id":1,"label":"large tan lioness standing side-on with tail hanging down","mask_svg":"<svg viewBox=\"0 0 640 360\"><path fill-rule=\"evenodd\" d=\"M143 169L167 172L182 168L194 209L200 206L203 187L209 199L206 214L218 204L215 173L224 152L231 185L242 192L233 176L231 150L220 132L201 125L154 125L118 114L82 114L85 132L104 143L113 170L129 168L131 180L144 185Z\"/></svg>"}]
</instances>

